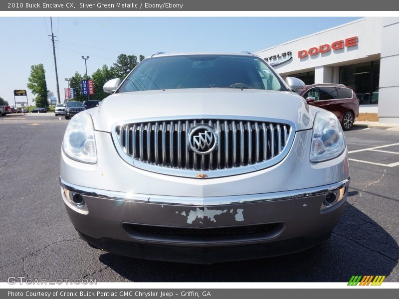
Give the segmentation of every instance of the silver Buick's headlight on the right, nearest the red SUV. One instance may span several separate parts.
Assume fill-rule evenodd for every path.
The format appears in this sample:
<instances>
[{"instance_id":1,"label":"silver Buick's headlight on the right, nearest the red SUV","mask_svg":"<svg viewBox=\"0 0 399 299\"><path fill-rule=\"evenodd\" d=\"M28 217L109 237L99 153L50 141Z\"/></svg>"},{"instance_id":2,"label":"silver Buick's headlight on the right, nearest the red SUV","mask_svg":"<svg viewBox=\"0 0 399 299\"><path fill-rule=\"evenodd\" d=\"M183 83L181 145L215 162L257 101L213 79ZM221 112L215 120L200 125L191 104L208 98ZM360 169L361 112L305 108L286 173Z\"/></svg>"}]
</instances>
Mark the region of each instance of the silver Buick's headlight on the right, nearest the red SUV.
<instances>
[{"instance_id":1,"label":"silver Buick's headlight on the right, nearest the red SUV","mask_svg":"<svg viewBox=\"0 0 399 299\"><path fill-rule=\"evenodd\" d=\"M345 150L345 137L337 117L328 111L316 114L313 124L310 160L321 162L339 156Z\"/></svg>"}]
</instances>

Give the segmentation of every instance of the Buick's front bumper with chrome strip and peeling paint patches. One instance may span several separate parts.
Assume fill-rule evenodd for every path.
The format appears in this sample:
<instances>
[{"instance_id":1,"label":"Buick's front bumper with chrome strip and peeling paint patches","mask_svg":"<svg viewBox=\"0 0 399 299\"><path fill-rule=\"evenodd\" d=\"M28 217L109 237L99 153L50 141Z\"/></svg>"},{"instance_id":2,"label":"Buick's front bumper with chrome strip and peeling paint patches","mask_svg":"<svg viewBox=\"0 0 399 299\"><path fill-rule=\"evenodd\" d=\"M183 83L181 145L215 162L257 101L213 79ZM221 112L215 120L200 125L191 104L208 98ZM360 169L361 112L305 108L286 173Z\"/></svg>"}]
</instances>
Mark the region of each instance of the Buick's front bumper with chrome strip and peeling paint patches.
<instances>
[{"instance_id":1,"label":"Buick's front bumper with chrome strip and peeling paint patches","mask_svg":"<svg viewBox=\"0 0 399 299\"><path fill-rule=\"evenodd\" d=\"M215 263L321 242L338 223L348 185L349 177L293 191L200 198L114 192L61 179L61 194L72 224L96 247L138 258ZM326 203L327 193L336 194L333 204ZM74 194L84 199L79 207Z\"/></svg>"}]
</instances>

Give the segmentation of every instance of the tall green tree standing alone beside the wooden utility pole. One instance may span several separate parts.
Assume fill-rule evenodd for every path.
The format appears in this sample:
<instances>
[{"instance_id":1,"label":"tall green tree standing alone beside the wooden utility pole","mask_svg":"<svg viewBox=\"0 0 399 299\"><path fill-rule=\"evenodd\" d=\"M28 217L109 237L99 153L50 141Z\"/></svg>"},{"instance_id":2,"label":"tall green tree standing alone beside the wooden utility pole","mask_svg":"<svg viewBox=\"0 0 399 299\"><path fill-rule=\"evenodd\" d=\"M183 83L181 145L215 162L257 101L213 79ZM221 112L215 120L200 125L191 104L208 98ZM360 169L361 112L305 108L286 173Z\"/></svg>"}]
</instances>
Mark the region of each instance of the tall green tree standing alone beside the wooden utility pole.
<instances>
[{"instance_id":1,"label":"tall green tree standing alone beside the wooden utility pole","mask_svg":"<svg viewBox=\"0 0 399 299\"><path fill-rule=\"evenodd\" d=\"M36 97L34 101L36 107L48 107L47 101L47 83L43 64L32 65L27 87Z\"/></svg>"}]
</instances>

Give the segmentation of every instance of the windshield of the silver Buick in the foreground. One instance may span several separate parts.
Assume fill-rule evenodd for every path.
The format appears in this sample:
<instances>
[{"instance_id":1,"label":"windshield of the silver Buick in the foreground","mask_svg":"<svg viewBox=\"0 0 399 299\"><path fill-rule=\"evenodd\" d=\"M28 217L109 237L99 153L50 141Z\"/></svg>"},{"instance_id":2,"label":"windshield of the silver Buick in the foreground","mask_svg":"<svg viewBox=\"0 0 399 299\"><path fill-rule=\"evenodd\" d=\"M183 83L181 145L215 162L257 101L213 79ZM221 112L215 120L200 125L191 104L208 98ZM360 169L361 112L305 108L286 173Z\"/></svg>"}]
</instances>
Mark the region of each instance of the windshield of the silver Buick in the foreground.
<instances>
[{"instance_id":1,"label":"windshield of the silver Buick in the foreground","mask_svg":"<svg viewBox=\"0 0 399 299\"><path fill-rule=\"evenodd\" d=\"M117 92L177 88L286 90L261 59L234 55L182 55L146 59Z\"/></svg>"}]
</instances>

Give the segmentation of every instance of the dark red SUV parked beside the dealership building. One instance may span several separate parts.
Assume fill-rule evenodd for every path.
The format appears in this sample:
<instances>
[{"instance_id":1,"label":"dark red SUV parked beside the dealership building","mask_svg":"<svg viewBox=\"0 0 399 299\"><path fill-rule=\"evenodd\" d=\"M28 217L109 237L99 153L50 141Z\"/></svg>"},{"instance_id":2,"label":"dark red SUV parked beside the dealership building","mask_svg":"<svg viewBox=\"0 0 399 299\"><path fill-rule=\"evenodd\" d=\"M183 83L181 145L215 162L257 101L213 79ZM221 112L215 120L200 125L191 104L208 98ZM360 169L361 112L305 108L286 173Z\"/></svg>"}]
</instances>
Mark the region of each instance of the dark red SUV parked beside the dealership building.
<instances>
[{"instance_id":1,"label":"dark red SUV parked beside the dealership building","mask_svg":"<svg viewBox=\"0 0 399 299\"><path fill-rule=\"evenodd\" d=\"M359 116L359 99L353 89L343 84L306 85L300 95L309 105L334 113L345 131L352 129Z\"/></svg>"}]
</instances>

